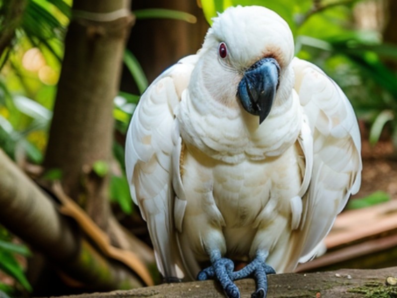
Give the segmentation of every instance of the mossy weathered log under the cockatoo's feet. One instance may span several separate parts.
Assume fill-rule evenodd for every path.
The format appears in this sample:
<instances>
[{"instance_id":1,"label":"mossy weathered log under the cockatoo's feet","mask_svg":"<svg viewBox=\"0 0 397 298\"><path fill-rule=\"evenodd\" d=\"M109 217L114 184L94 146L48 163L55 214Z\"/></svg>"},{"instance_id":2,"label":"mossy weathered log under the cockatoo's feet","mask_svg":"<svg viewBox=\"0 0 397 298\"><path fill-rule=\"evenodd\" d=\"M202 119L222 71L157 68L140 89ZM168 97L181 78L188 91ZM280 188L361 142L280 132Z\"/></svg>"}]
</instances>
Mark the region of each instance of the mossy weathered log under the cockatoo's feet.
<instances>
[{"instance_id":1,"label":"mossy weathered log under the cockatoo's feet","mask_svg":"<svg viewBox=\"0 0 397 298\"><path fill-rule=\"evenodd\" d=\"M341 269L320 273L287 273L268 276L267 298L391 298L397 297L397 267L377 270ZM389 279L388 279L389 278ZM252 279L236 281L241 297L255 291ZM164 284L131 291L76 295L62 298L224 298L214 281ZM61 297L60 297L61 298Z\"/></svg>"}]
</instances>

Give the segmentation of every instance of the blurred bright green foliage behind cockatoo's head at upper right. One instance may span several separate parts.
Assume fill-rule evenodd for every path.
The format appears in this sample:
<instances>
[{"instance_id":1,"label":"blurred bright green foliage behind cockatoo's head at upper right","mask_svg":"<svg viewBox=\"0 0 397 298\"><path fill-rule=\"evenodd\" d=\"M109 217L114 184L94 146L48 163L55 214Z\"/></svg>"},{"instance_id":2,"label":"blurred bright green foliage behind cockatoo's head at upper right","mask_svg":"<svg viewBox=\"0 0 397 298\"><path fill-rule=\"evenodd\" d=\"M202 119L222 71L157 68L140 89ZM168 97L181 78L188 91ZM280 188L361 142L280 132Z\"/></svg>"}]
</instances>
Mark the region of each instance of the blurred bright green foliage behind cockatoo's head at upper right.
<instances>
[{"instance_id":1,"label":"blurred bright green foliage behind cockatoo's head at upper right","mask_svg":"<svg viewBox=\"0 0 397 298\"><path fill-rule=\"evenodd\" d=\"M390 122L397 147L397 75L384 63L397 63L397 46L383 44L380 34L358 30L353 8L360 0L201 0L208 22L231 5L262 5L280 14L295 37L299 58L320 66L345 91L357 116L374 127L376 142ZM386 111L385 111L386 110ZM385 112L384 112L385 111Z\"/></svg>"}]
</instances>

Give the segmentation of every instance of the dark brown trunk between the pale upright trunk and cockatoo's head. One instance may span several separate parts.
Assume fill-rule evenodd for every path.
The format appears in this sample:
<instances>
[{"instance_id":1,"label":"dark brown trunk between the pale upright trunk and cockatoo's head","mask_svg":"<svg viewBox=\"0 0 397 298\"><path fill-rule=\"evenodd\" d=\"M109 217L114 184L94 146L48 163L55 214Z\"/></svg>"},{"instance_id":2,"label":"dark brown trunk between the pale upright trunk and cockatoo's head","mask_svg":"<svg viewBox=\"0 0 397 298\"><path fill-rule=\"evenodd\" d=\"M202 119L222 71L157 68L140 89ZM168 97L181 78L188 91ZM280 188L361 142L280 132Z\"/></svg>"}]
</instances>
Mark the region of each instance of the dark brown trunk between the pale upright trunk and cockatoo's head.
<instances>
[{"instance_id":1,"label":"dark brown trunk between the pale upright trunk and cockatoo's head","mask_svg":"<svg viewBox=\"0 0 397 298\"><path fill-rule=\"evenodd\" d=\"M192 13L197 17L196 24L172 19L145 19L136 22L128 48L136 56L150 83L170 65L199 50L208 24L195 0L133 1L132 11L144 8L175 9ZM123 75L122 90L137 92L128 72Z\"/></svg>"}]
</instances>

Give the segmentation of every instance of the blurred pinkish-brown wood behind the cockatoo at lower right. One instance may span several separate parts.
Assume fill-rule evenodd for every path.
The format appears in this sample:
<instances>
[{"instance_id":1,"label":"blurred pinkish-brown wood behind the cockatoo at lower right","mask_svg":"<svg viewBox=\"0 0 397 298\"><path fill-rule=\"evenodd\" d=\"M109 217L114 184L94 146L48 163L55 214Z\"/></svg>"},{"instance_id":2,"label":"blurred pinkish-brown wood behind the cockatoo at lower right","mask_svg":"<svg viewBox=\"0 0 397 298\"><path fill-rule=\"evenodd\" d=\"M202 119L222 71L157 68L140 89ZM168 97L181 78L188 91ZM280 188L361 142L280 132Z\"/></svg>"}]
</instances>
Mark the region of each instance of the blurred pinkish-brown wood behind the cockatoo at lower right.
<instances>
[{"instance_id":1,"label":"blurred pinkish-brown wood behind the cockatoo at lower right","mask_svg":"<svg viewBox=\"0 0 397 298\"><path fill-rule=\"evenodd\" d=\"M341 213L324 242L327 253L296 271L397 266L397 200Z\"/></svg>"}]
</instances>

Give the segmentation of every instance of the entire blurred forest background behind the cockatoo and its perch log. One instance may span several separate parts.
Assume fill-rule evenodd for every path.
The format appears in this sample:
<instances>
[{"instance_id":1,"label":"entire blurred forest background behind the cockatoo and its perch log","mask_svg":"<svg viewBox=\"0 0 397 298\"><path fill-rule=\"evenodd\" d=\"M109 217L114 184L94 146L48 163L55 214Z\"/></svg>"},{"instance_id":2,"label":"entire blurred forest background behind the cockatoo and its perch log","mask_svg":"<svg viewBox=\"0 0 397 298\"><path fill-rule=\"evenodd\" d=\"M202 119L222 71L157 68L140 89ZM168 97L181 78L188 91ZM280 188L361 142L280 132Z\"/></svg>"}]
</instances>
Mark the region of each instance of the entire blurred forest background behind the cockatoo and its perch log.
<instances>
[{"instance_id":1,"label":"entire blurred forest background behind the cockatoo and its perch log","mask_svg":"<svg viewBox=\"0 0 397 298\"><path fill-rule=\"evenodd\" d=\"M298 270L397 265L397 1L0 0L0 297L148 284L128 252L159 282L125 133L148 84L237 4L279 13L296 56L331 76L359 119L361 191L327 253Z\"/></svg>"}]
</instances>

